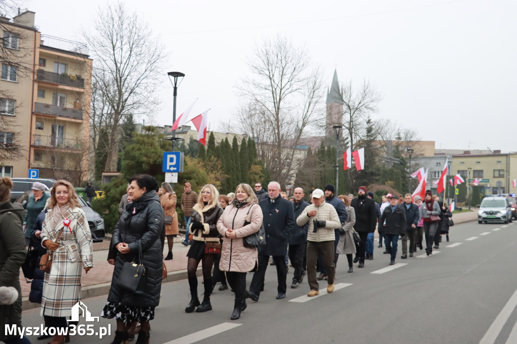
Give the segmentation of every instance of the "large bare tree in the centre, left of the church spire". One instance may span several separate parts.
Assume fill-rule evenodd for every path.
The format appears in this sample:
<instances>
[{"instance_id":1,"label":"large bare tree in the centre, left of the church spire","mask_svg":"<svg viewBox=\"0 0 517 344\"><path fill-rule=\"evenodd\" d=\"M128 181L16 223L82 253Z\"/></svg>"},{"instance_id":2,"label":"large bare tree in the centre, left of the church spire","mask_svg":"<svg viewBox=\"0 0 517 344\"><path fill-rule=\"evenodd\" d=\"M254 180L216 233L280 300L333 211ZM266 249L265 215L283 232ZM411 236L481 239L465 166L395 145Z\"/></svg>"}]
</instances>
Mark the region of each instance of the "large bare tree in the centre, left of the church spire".
<instances>
[{"instance_id":1,"label":"large bare tree in the centre, left of the church spire","mask_svg":"<svg viewBox=\"0 0 517 344\"><path fill-rule=\"evenodd\" d=\"M271 178L285 185L296 173L300 137L322 110L321 73L307 49L281 36L257 44L248 66L252 76L237 87L246 99L237 118L241 130L257 141L258 159Z\"/></svg>"}]
</instances>

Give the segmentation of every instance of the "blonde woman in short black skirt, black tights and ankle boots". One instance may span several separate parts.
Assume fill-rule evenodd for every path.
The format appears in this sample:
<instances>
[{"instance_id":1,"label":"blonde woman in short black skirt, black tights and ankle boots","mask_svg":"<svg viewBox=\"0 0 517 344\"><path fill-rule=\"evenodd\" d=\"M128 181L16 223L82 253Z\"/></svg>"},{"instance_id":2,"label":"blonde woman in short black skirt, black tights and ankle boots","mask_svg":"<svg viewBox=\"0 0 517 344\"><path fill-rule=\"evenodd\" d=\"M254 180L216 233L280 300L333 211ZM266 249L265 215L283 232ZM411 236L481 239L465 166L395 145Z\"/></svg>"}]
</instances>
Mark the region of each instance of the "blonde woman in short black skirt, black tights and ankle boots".
<instances>
[{"instance_id":1,"label":"blonde woman in short black skirt, black tights and ankle boots","mask_svg":"<svg viewBox=\"0 0 517 344\"><path fill-rule=\"evenodd\" d=\"M206 242L219 244L219 233L216 225L223 209L219 205L219 192L212 184L203 186L197 203L192 208L192 222L189 233L192 233L192 245L187 257L187 276L189 279L191 299L185 308L187 313L194 311L206 312L212 309L210 294L212 292L212 267L216 260L216 253L205 253ZM197 298L197 276L195 274L199 263L202 262L205 294L203 303Z\"/></svg>"}]
</instances>

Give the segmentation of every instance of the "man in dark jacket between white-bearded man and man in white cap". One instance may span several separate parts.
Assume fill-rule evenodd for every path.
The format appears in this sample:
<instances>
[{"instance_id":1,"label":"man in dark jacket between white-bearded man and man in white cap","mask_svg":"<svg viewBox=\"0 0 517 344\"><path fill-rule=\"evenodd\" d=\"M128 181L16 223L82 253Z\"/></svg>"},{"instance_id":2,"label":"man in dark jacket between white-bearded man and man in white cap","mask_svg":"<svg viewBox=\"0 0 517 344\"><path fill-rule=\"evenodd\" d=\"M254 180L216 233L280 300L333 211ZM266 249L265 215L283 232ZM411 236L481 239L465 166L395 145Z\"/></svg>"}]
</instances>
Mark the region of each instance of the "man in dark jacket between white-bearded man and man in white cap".
<instances>
[{"instance_id":1,"label":"man in dark jacket between white-bearded man and man in white cap","mask_svg":"<svg viewBox=\"0 0 517 344\"><path fill-rule=\"evenodd\" d=\"M300 216L303 209L307 208L309 205L306 201L303 200L303 189L301 187L297 187L294 189L294 202L293 202L293 210L294 210L294 218L298 218ZM307 231L309 230L309 223L306 223L303 226L298 226L298 224L294 224L294 230L289 237L289 259L291 259L291 263L294 267L294 277L293 283L291 284L291 288L298 288L299 284L303 280L303 276L305 276L305 267L306 267L306 254L307 254Z\"/></svg>"}]
</instances>

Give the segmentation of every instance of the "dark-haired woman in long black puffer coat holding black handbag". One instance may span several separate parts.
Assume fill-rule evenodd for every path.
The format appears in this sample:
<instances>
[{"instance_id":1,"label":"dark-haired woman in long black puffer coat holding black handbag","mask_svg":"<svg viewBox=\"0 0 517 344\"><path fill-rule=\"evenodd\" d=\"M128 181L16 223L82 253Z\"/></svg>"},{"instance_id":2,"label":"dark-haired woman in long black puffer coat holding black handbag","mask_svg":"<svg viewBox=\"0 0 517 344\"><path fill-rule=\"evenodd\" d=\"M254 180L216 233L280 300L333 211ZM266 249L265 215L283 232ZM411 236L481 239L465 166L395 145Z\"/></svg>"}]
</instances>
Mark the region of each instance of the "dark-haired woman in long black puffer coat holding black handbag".
<instances>
[{"instance_id":1,"label":"dark-haired woman in long black puffer coat holding black handbag","mask_svg":"<svg viewBox=\"0 0 517 344\"><path fill-rule=\"evenodd\" d=\"M117 258L111 280L108 303L104 306L103 318L116 318L117 330L112 344L128 340L126 324L140 322L141 330L136 343L149 340L149 320L155 317L155 307L160 301L163 252L160 234L163 229L163 208L156 194L158 183L154 177L139 175L130 179L128 192L132 200L113 231L112 245L117 249ZM117 279L125 262L138 259L142 248L142 263L145 267L146 288L143 292L130 293L117 286Z\"/></svg>"}]
</instances>

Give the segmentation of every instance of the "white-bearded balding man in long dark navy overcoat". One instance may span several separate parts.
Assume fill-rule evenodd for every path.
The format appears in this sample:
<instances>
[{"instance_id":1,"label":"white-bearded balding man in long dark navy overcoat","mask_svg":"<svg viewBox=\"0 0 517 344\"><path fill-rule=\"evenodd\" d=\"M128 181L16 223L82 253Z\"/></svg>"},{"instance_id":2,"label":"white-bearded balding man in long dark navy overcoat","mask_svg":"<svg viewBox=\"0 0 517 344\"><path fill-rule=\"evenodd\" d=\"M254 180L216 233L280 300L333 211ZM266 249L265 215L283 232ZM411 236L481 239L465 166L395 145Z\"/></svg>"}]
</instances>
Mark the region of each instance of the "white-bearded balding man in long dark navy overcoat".
<instances>
[{"instance_id":1,"label":"white-bearded balding man in long dark navy overcoat","mask_svg":"<svg viewBox=\"0 0 517 344\"><path fill-rule=\"evenodd\" d=\"M264 228L266 231L266 245L258 247L258 268L251 280L249 297L258 301L260 292L264 287L264 276L269 261L273 261L277 267L278 295L277 299L284 299L287 290L287 265L285 255L287 253L287 242L294 229L293 205L280 195L280 184L272 181L267 186L269 198L260 202L264 214Z\"/></svg>"}]
</instances>

